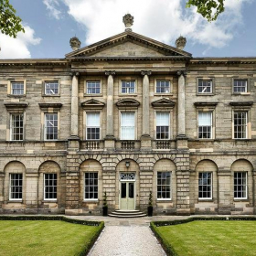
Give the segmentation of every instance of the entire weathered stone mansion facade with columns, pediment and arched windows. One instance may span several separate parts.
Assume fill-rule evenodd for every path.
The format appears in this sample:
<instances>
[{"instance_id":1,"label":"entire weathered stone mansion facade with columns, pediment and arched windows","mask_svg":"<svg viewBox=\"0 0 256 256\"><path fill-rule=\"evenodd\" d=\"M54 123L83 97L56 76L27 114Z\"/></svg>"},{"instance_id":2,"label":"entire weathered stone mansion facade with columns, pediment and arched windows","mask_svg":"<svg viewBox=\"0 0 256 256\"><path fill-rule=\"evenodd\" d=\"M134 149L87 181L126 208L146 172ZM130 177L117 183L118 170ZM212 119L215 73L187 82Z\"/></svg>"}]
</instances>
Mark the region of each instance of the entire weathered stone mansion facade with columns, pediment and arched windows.
<instances>
[{"instance_id":1,"label":"entire weathered stone mansion facade with columns, pediment and arched windows","mask_svg":"<svg viewBox=\"0 0 256 256\"><path fill-rule=\"evenodd\" d=\"M0 60L0 213L255 214L256 58L125 32Z\"/></svg>"}]
</instances>

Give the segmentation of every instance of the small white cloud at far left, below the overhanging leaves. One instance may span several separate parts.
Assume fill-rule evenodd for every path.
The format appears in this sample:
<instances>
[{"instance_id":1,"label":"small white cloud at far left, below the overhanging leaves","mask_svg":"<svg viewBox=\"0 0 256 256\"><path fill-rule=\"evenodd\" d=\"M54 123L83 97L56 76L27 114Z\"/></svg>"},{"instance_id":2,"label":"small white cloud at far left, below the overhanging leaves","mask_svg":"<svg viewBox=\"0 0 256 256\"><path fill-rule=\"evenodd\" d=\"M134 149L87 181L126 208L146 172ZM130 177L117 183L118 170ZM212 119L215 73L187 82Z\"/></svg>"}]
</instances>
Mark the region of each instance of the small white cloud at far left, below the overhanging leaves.
<instances>
[{"instance_id":1,"label":"small white cloud at far left, below the overhanging leaves","mask_svg":"<svg viewBox=\"0 0 256 256\"><path fill-rule=\"evenodd\" d=\"M0 59L27 59L31 58L29 45L37 45L41 38L35 37L35 31L24 26L25 33L19 32L16 38L0 34Z\"/></svg>"}]
</instances>

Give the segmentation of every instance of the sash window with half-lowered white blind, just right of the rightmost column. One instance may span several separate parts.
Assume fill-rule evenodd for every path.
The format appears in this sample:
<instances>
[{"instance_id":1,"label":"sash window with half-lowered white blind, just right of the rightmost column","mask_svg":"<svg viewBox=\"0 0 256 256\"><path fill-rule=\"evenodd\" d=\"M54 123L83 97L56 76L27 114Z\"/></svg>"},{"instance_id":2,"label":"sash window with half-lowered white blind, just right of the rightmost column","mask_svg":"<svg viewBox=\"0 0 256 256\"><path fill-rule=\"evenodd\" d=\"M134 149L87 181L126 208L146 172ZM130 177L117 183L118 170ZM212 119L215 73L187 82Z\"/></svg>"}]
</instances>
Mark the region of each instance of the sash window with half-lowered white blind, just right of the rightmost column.
<instances>
[{"instance_id":1,"label":"sash window with half-lowered white blind, just right of the rightmost column","mask_svg":"<svg viewBox=\"0 0 256 256\"><path fill-rule=\"evenodd\" d=\"M212 112L198 112L198 138L212 138Z\"/></svg>"}]
</instances>

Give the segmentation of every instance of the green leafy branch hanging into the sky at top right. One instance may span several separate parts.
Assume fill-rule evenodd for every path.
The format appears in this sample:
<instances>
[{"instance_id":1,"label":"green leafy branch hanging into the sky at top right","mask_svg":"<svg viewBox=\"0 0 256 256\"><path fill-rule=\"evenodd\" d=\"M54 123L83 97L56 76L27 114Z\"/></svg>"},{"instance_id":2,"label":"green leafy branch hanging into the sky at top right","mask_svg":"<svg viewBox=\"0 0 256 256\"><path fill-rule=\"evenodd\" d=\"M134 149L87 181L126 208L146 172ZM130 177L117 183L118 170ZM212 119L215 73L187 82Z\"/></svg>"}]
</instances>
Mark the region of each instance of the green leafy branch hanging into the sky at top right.
<instances>
[{"instance_id":1,"label":"green leafy branch hanging into the sky at top right","mask_svg":"<svg viewBox=\"0 0 256 256\"><path fill-rule=\"evenodd\" d=\"M224 12L224 1L225 0L188 0L186 6L196 6L197 13L207 18L208 21L214 21L219 14Z\"/></svg>"}]
</instances>

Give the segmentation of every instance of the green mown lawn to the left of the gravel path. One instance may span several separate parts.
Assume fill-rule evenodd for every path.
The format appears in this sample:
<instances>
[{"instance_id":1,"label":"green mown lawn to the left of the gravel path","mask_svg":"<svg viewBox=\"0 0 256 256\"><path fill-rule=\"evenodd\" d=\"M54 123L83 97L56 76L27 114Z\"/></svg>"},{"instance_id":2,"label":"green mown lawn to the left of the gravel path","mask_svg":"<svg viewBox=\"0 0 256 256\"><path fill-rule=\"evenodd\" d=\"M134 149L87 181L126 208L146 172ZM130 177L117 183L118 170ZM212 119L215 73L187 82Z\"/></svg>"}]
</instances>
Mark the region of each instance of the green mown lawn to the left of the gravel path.
<instances>
[{"instance_id":1,"label":"green mown lawn to the left of the gravel path","mask_svg":"<svg viewBox=\"0 0 256 256\"><path fill-rule=\"evenodd\" d=\"M60 220L0 220L0 255L79 255L98 229Z\"/></svg>"}]
</instances>

